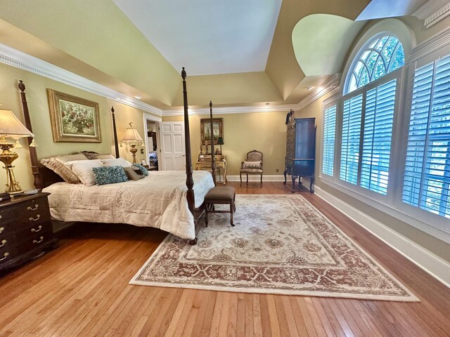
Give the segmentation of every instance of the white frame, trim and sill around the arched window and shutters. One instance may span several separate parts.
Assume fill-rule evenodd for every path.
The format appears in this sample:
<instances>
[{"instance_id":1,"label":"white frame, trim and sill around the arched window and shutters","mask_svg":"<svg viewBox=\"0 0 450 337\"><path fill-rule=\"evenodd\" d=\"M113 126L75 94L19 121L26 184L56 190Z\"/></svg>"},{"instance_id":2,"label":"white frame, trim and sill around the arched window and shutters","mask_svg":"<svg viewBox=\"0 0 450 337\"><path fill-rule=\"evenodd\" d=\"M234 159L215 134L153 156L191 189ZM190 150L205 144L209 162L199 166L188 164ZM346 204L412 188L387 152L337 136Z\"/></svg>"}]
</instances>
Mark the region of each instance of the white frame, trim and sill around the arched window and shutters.
<instances>
[{"instance_id":1,"label":"white frame, trim and sill around the arched window and shutters","mask_svg":"<svg viewBox=\"0 0 450 337\"><path fill-rule=\"evenodd\" d=\"M357 94L360 89L352 91L347 95L341 95L335 98L338 103L337 109L337 124L336 130L336 143L335 143L335 176L329 177L326 175L321 175L321 183L326 186L333 187L333 189L338 190L344 194L347 194L350 198L354 198L355 201L362 202L369 207L378 209L387 216L392 216L397 218L404 223L416 227L418 230L441 239L442 241L450 244L450 227L449 219L443 216L438 216L430 211L425 211L415 206L404 203L401 200L401 195L403 192L403 181L404 181L404 165L406 161L406 146L408 142L409 133L409 118L411 112L411 100L413 92L413 79L414 73L418 67L421 67L427 63L443 58L445 55L450 54L450 45L446 42L450 39L450 31L440 32L434 37L424 41L422 44L416 46L416 40L409 31L409 28L395 19L386 19L378 22L373 27L369 28L368 31L363 34L363 37L356 43L354 50L347 59L347 64L345 65L345 71L342 75L341 88L342 93L345 92L343 89L345 87L345 81L347 79L347 72L349 71L352 62L354 61L357 53L360 51L364 44L368 43L369 40L373 39L375 34L379 32L389 32L399 38L404 46L405 53L405 65L394 72L401 72L399 75L399 80L397 81L397 92L396 92L396 112L394 112L394 120L392 126L392 147L390 155L390 176L387 195L385 198L379 198L377 193L365 193L360 189L363 187L355 186L352 184L346 184L339 178L336 178L336 172L340 171L340 138L342 133L342 106L346 98L349 98L350 94ZM375 27L378 26L378 27ZM367 86L376 86L377 81L387 79L387 76L393 74L394 72L386 74L384 77L371 82ZM364 87L363 87L364 88ZM370 89L369 89L370 90ZM398 103L398 104L397 104ZM400 113L398 113L400 112ZM363 110L364 113L364 110ZM364 119L364 116L362 117ZM407 121L407 122L405 122ZM364 123L361 123L361 137L362 132L364 132ZM359 188L354 188L359 187ZM366 189L364 189L366 190ZM366 190L368 191L368 190ZM369 191L371 192L371 191Z\"/></svg>"}]
</instances>

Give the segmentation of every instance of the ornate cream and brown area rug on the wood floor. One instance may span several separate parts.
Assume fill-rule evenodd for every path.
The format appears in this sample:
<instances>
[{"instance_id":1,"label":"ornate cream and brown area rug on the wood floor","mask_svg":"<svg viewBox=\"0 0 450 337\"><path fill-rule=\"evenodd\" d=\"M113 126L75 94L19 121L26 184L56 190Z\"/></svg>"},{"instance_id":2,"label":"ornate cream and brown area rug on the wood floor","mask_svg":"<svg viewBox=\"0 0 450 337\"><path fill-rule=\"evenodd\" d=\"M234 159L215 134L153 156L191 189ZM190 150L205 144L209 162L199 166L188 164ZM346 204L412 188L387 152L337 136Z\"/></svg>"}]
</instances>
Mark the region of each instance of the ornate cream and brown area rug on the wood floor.
<instances>
[{"instance_id":1,"label":"ornate cream and brown area rug on the wood floor","mask_svg":"<svg viewBox=\"0 0 450 337\"><path fill-rule=\"evenodd\" d=\"M418 301L298 194L236 195L235 227L209 216L197 245L169 234L130 284Z\"/></svg>"}]
</instances>

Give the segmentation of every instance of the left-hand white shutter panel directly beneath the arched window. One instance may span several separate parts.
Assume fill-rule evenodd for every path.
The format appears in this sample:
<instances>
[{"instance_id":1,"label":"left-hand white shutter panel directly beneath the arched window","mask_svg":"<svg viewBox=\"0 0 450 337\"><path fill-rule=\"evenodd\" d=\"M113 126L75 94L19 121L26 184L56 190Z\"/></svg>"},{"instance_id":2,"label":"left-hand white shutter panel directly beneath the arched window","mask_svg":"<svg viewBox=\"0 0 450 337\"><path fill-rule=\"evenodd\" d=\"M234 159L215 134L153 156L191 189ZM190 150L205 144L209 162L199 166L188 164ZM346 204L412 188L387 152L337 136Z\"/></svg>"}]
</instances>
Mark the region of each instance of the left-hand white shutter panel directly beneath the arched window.
<instances>
[{"instance_id":1,"label":"left-hand white shutter panel directly beneath the arched window","mask_svg":"<svg viewBox=\"0 0 450 337\"><path fill-rule=\"evenodd\" d=\"M358 183L362 103L362 94L345 100L342 114L342 145L339 178L354 185Z\"/></svg>"}]
</instances>

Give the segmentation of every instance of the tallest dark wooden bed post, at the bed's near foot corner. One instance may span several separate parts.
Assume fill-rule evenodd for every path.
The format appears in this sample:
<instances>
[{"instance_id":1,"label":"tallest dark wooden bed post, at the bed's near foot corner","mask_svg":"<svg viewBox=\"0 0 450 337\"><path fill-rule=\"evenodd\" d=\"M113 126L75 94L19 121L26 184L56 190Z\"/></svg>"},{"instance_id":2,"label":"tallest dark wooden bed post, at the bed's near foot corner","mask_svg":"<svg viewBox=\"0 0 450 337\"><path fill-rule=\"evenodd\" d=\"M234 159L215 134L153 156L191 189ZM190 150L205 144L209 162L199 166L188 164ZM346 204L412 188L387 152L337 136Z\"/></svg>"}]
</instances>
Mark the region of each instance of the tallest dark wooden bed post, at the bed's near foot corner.
<instances>
[{"instance_id":1,"label":"tallest dark wooden bed post, at the bed's near foot corner","mask_svg":"<svg viewBox=\"0 0 450 337\"><path fill-rule=\"evenodd\" d=\"M181 70L181 77L183 78L183 102L184 102L184 146L186 148L186 186L188 187L187 198L189 211L194 216L195 226L198 223L195 216L195 196L194 196L194 180L192 178L192 158L191 158L191 131L189 131L189 114L188 114L188 91L186 90L186 70ZM191 240L191 244L197 243L197 238Z\"/></svg>"}]
</instances>

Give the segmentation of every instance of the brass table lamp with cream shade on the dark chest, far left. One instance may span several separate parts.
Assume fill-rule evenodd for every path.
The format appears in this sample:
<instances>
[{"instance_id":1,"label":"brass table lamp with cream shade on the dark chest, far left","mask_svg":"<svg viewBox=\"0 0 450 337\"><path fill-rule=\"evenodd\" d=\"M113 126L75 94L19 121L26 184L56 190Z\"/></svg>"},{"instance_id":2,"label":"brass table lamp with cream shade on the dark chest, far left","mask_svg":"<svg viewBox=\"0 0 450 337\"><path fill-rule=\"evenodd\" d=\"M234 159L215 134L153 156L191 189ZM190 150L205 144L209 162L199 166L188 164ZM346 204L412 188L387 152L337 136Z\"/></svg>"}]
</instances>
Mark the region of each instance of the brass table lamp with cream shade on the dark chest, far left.
<instances>
[{"instance_id":1,"label":"brass table lamp with cream shade on the dark chest, far left","mask_svg":"<svg viewBox=\"0 0 450 337\"><path fill-rule=\"evenodd\" d=\"M0 161L4 163L6 169L6 190L9 194L18 194L23 192L22 188L15 181L13 172L13 161L18 159L18 154L9 149L22 147L19 139L23 137L34 137L34 135L15 117L11 110L0 109ZM37 146L34 140L30 146Z\"/></svg>"}]
</instances>

